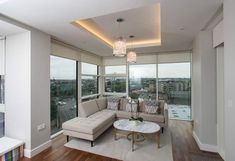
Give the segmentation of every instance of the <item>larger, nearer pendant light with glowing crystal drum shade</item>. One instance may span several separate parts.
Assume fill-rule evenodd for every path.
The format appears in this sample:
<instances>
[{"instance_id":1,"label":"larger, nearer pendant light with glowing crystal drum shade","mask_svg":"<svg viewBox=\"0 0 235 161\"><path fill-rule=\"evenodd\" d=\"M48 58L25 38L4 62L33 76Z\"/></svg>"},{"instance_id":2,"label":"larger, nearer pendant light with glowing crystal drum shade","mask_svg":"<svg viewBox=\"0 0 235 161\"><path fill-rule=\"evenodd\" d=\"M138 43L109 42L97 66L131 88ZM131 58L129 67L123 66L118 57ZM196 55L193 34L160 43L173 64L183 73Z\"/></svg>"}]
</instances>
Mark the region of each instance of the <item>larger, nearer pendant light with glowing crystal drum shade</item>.
<instances>
[{"instance_id":1,"label":"larger, nearer pendant light with glowing crystal drum shade","mask_svg":"<svg viewBox=\"0 0 235 161\"><path fill-rule=\"evenodd\" d=\"M122 18L117 19L119 35L120 35L120 23L123 21L124 21L124 19L122 19ZM123 57L126 55L126 41L122 36L120 36L113 43L113 55L118 56L118 57Z\"/></svg>"}]
</instances>

